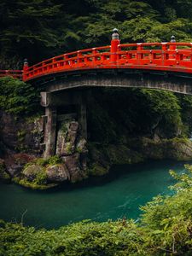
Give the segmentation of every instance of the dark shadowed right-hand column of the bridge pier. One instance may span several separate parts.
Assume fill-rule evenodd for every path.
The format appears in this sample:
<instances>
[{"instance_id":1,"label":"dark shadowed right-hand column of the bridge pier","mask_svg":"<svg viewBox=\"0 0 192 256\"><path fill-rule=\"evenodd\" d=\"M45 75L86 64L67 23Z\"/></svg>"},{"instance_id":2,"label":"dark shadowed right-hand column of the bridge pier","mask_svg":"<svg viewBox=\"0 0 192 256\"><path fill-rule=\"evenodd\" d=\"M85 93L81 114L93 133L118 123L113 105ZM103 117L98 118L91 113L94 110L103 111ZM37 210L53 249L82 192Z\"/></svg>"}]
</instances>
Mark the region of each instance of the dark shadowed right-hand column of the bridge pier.
<instances>
[{"instance_id":1,"label":"dark shadowed right-hand column of the bridge pier","mask_svg":"<svg viewBox=\"0 0 192 256\"><path fill-rule=\"evenodd\" d=\"M81 94L81 102L78 105L79 108L79 124L81 125L82 136L87 139L87 107L86 96Z\"/></svg>"}]
</instances>

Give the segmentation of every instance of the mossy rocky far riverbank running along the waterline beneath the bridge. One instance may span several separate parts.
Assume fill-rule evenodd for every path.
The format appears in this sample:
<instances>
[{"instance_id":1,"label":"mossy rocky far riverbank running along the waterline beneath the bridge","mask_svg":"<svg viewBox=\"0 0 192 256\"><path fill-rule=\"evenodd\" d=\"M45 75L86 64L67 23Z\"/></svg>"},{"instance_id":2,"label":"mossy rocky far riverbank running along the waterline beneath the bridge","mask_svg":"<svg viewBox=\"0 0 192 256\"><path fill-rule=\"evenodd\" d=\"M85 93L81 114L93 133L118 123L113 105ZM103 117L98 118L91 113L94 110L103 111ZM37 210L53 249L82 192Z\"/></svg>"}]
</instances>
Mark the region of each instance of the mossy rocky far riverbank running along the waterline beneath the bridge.
<instances>
[{"instance_id":1,"label":"mossy rocky far riverbank running along the waterline beneath the bridge","mask_svg":"<svg viewBox=\"0 0 192 256\"><path fill-rule=\"evenodd\" d=\"M113 165L133 165L147 160L192 160L192 142L187 138L154 141L140 137L128 139L126 144L119 145L90 143L88 152L87 168L84 172L79 171L76 178L73 176L73 180L61 157L55 156L49 160L33 158L26 162L22 160L30 159L26 154L13 157L20 164L20 171L17 172L9 172L2 160L0 177L6 182L12 181L31 189L50 189L61 183L77 183L88 177L108 175Z\"/></svg>"}]
</instances>

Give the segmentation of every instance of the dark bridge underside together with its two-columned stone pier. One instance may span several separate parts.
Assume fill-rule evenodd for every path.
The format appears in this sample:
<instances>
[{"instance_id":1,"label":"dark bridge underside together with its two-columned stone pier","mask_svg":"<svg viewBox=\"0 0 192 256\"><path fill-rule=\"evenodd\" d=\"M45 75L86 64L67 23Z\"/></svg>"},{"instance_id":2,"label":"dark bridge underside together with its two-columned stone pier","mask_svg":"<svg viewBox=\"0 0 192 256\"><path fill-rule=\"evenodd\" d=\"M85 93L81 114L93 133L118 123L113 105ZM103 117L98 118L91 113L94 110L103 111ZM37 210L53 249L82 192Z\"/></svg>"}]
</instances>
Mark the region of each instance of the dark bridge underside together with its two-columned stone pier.
<instances>
[{"instance_id":1,"label":"dark bridge underside together with its two-columned stone pier","mask_svg":"<svg viewBox=\"0 0 192 256\"><path fill-rule=\"evenodd\" d=\"M88 97L87 90L82 89L140 87L192 95L192 76L184 73L108 69L60 73L55 77L49 76L37 82L44 90L41 92L41 104L45 107L44 157L46 158L55 154L56 126L58 119L60 119L58 108L65 109L68 106L75 106L76 119L81 126L82 136L87 137L86 101Z\"/></svg>"}]
</instances>

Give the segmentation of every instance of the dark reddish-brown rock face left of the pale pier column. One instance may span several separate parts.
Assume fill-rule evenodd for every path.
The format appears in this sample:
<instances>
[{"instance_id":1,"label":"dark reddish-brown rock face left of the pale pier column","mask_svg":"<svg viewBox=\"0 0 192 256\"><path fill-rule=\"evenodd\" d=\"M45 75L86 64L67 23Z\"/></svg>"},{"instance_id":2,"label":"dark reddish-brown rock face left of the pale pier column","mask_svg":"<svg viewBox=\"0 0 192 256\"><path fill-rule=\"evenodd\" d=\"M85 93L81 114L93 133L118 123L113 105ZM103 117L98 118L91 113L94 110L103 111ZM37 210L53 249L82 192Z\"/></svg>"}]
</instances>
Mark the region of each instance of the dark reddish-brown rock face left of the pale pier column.
<instances>
[{"instance_id":1,"label":"dark reddish-brown rock face left of the pale pier column","mask_svg":"<svg viewBox=\"0 0 192 256\"><path fill-rule=\"evenodd\" d=\"M0 154L42 154L43 119L24 119L0 111Z\"/></svg>"}]
</instances>

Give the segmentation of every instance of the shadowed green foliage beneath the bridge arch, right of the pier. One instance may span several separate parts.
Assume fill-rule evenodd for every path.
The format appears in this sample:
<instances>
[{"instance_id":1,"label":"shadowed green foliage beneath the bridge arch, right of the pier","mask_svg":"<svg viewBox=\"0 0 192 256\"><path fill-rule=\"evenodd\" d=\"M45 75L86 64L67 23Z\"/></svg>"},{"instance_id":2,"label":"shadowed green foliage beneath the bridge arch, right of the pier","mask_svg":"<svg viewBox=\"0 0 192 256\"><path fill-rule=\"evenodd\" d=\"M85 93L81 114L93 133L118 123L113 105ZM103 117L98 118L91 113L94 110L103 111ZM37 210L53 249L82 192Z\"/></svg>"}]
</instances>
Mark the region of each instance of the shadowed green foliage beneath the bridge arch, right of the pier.
<instances>
[{"instance_id":1,"label":"shadowed green foliage beneath the bridge arch, right of the pier","mask_svg":"<svg viewBox=\"0 0 192 256\"><path fill-rule=\"evenodd\" d=\"M189 137L191 96L166 90L96 89L88 102L90 141L119 143L125 137Z\"/></svg>"}]
</instances>

